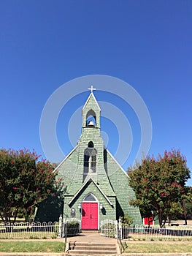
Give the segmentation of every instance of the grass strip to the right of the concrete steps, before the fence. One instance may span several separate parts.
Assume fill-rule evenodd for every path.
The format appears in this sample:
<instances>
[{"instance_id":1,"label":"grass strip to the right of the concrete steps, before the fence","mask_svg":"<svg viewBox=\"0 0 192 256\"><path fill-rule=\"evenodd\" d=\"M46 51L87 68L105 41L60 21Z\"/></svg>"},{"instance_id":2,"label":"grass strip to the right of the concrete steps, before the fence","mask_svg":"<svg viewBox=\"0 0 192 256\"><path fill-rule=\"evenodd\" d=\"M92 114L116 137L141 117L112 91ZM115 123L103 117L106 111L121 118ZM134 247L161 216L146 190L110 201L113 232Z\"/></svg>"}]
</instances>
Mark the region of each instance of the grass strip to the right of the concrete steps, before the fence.
<instances>
[{"instance_id":1,"label":"grass strip to the right of the concrete steps, before the fence","mask_svg":"<svg viewBox=\"0 0 192 256\"><path fill-rule=\"evenodd\" d=\"M192 244L190 243L127 243L126 253L185 253L192 252Z\"/></svg>"}]
</instances>

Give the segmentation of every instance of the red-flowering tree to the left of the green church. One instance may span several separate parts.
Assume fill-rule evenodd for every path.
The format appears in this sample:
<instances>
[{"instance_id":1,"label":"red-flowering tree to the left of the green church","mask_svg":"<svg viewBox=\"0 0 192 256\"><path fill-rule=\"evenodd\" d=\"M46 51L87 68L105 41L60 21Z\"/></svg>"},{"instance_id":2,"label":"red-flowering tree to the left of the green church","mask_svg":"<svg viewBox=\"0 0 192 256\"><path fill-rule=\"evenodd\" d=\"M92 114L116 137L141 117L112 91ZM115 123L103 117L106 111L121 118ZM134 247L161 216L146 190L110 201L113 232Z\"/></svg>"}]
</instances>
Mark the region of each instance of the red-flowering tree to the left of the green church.
<instances>
[{"instance_id":1,"label":"red-flowering tree to the left of the green church","mask_svg":"<svg viewBox=\"0 0 192 256\"><path fill-rule=\"evenodd\" d=\"M28 221L42 200L62 194L62 181L56 179L53 166L38 159L34 151L0 149L0 217L4 222L11 222L11 217L15 222L19 209Z\"/></svg>"}]
</instances>

